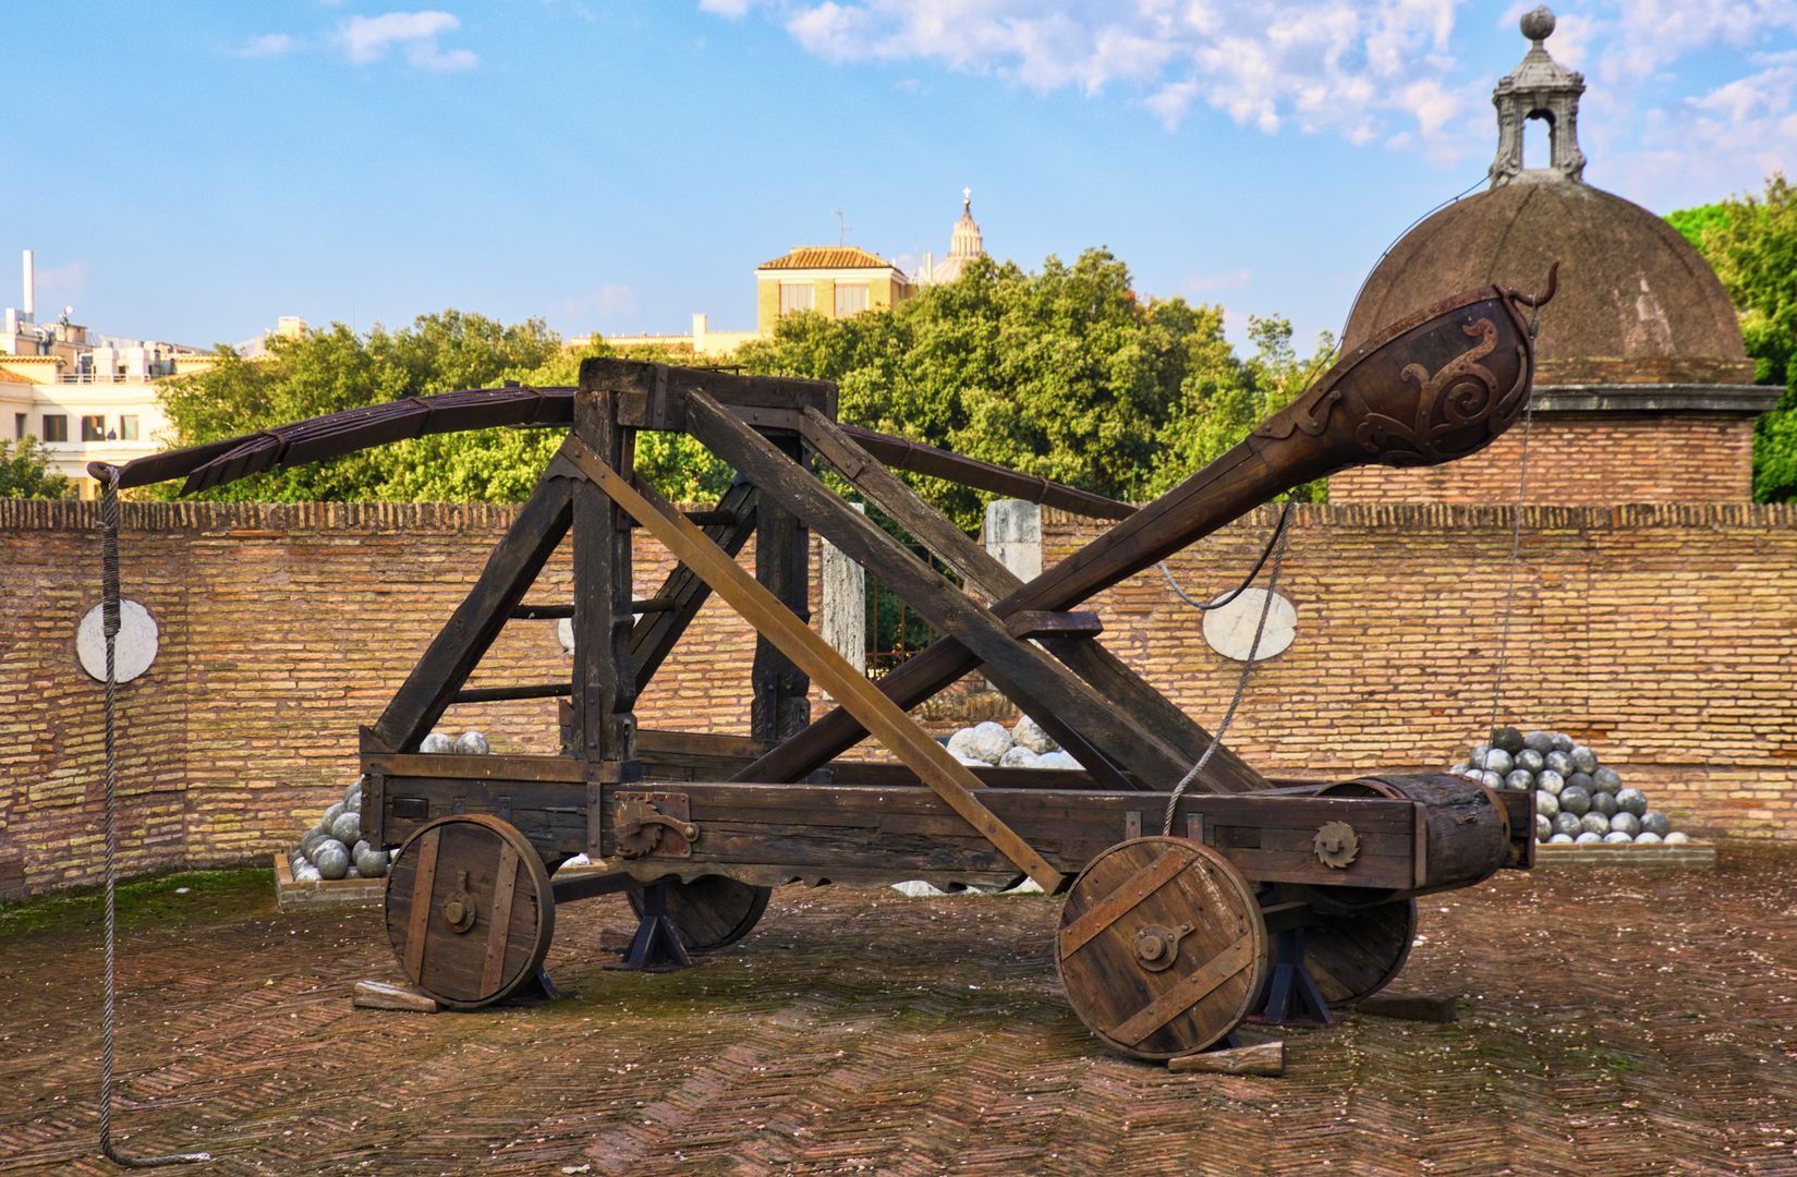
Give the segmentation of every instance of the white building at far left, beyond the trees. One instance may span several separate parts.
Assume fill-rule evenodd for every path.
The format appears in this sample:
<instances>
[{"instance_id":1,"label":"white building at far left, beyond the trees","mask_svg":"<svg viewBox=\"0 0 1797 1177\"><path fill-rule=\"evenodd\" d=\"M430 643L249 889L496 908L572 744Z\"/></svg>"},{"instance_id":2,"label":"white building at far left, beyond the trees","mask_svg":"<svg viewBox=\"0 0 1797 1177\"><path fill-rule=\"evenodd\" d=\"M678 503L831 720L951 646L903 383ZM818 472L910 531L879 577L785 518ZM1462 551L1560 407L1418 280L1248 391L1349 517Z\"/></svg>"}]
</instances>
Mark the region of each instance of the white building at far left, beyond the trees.
<instances>
[{"instance_id":1,"label":"white building at far left, beyond the trees","mask_svg":"<svg viewBox=\"0 0 1797 1177\"><path fill-rule=\"evenodd\" d=\"M32 253L23 257L22 307L0 323L0 437L34 437L56 473L95 494L88 462L129 462L162 449L167 429L155 383L212 367L212 354L153 340L93 336L74 307L38 322Z\"/></svg>"}]
</instances>

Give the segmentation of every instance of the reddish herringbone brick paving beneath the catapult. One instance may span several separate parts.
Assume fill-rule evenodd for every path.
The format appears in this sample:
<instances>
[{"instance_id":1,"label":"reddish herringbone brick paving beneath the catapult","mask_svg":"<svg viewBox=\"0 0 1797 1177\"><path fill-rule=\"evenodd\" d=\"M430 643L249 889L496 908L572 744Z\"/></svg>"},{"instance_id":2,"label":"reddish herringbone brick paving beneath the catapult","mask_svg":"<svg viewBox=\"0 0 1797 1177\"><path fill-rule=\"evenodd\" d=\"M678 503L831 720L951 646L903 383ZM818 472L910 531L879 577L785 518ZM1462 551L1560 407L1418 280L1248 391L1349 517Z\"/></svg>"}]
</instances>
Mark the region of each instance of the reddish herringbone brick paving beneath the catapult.
<instances>
[{"instance_id":1,"label":"reddish herringbone brick paving beneath the catapult","mask_svg":"<svg viewBox=\"0 0 1797 1177\"><path fill-rule=\"evenodd\" d=\"M350 1010L376 915L268 875L133 897L128 1146L205 1172L1797 1172L1797 863L1506 877L1425 904L1400 985L1463 1021L1287 1035L1283 1080L1111 1058L1062 1004L1055 902L776 893L739 951L598 969L557 916L544 1008ZM0 920L0 1157L99 1172L92 916ZM13 927L14 931L7 931ZM588 1168L580 1168L588 1166Z\"/></svg>"}]
</instances>

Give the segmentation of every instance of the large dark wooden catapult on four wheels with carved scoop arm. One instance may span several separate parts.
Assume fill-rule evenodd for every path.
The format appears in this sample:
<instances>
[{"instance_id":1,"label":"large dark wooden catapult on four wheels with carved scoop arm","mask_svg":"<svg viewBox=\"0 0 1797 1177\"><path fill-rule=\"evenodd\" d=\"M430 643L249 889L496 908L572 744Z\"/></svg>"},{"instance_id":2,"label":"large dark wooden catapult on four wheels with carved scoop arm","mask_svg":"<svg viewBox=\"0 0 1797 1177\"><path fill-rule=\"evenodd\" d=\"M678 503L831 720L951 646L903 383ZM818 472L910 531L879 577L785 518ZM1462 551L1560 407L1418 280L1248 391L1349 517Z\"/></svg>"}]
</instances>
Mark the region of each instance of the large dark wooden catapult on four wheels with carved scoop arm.
<instances>
[{"instance_id":1,"label":"large dark wooden catapult on four wheels with carved scoop arm","mask_svg":"<svg viewBox=\"0 0 1797 1177\"><path fill-rule=\"evenodd\" d=\"M1551 295L1551 289L1549 289ZM625 893L627 967L688 963L740 940L773 886L1010 886L1066 893L1055 958L1107 1046L1173 1058L1247 1017L1328 1019L1403 965L1414 897L1527 868L1527 792L1452 774L1272 782L1100 642L1078 606L1274 496L1364 464L1483 449L1524 412L1531 298L1488 288L1394 323L1240 446L1141 509L836 420L821 381L588 359L579 388L417 397L244 438L95 465L115 492L205 489L424 433L562 426L474 588L379 721L361 731L363 836L403 846L386 931L406 978L476 1008L546 985L557 904ZM737 473L683 512L633 471L642 429L683 431ZM827 465L960 575L933 570L816 476ZM1021 582L891 467L1118 523ZM636 598L633 530L677 561ZM879 683L809 624L809 532L943 634ZM571 535L573 600L527 602ZM755 573L737 553L755 537ZM638 730L634 701L710 595L757 634L748 737ZM467 688L518 618L571 618L568 681ZM1082 771L969 767L909 710L981 672ZM810 685L836 708L810 717ZM420 755L446 708L559 699L561 755ZM897 762L843 753L875 739ZM1170 836L1161 836L1161 830ZM586 854L609 868L552 879Z\"/></svg>"}]
</instances>

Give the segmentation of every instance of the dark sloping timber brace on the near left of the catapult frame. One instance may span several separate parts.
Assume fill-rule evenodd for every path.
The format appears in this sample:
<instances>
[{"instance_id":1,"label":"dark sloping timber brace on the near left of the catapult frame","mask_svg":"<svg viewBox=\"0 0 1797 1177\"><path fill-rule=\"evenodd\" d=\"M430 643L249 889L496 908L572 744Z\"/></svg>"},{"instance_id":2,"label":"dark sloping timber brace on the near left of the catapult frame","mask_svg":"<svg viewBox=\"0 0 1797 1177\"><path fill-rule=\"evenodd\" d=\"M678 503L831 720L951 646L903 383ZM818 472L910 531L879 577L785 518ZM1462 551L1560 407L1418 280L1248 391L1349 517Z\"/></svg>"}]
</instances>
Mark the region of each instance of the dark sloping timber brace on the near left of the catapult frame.
<instances>
[{"instance_id":1,"label":"dark sloping timber brace on the near left of the catapult frame","mask_svg":"<svg viewBox=\"0 0 1797 1177\"><path fill-rule=\"evenodd\" d=\"M437 726L451 697L480 665L512 609L525 598L543 564L573 519L566 478L544 474L536 492L505 528L474 588L437 633L424 656L374 724L388 751L415 751Z\"/></svg>"}]
</instances>

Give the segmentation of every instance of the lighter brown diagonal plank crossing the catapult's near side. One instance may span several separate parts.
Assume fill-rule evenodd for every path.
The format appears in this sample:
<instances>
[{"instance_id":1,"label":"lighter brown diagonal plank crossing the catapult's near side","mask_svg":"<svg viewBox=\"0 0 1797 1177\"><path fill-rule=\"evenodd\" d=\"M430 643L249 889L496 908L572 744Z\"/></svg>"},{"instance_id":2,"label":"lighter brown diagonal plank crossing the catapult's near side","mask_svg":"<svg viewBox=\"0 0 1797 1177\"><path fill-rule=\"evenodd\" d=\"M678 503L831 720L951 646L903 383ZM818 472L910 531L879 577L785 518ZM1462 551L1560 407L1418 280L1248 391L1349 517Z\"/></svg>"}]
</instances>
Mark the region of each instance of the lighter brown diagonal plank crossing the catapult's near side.
<instances>
[{"instance_id":1,"label":"lighter brown diagonal plank crossing the catapult's near side","mask_svg":"<svg viewBox=\"0 0 1797 1177\"><path fill-rule=\"evenodd\" d=\"M1058 891L1064 877L1014 828L979 803L979 780L949 749L929 737L873 683L810 631L791 609L744 571L652 487L636 489L606 465L579 438L562 444L566 455L615 503L649 530L677 559L694 568L757 633L767 634L805 674L814 677L866 726L875 739L949 803L994 848L1030 875L1044 891Z\"/></svg>"}]
</instances>

